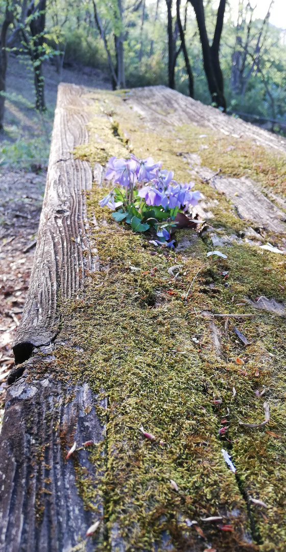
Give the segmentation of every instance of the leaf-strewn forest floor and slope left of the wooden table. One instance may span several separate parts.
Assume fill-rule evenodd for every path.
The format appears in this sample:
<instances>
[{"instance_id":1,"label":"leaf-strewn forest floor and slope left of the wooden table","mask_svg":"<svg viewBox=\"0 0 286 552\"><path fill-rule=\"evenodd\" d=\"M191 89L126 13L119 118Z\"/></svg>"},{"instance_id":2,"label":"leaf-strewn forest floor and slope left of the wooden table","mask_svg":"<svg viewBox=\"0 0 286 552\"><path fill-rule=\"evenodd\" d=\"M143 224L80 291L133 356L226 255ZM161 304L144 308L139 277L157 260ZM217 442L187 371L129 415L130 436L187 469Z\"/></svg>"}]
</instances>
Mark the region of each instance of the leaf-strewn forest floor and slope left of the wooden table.
<instances>
[{"instance_id":1,"label":"leaf-strewn forest floor and slope left of the wooden table","mask_svg":"<svg viewBox=\"0 0 286 552\"><path fill-rule=\"evenodd\" d=\"M34 259L58 83L111 89L109 77L91 67L63 68L60 77L47 64L44 75L47 110L39 114L30 68L10 56L0 133L0 420Z\"/></svg>"}]
</instances>

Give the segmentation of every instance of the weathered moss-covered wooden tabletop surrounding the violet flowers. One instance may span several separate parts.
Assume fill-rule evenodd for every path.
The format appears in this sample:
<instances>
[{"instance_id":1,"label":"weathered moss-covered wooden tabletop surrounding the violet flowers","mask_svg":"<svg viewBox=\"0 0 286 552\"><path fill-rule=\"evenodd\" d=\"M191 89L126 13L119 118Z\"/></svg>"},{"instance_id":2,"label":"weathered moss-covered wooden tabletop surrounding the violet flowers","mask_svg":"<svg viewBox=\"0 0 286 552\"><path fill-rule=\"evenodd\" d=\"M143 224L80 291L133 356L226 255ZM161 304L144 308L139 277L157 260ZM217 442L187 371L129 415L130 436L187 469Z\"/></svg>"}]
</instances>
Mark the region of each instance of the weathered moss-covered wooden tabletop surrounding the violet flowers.
<instances>
[{"instance_id":1,"label":"weathered moss-covered wooden tabletop surrounding the violet flowers","mask_svg":"<svg viewBox=\"0 0 286 552\"><path fill-rule=\"evenodd\" d=\"M259 240L283 247L286 203L203 167L190 141L203 155L215 136L286 152L165 87L60 85L1 433L1 552L285 550L284 256ZM106 161L131 151L203 189L207 225L174 252L98 206Z\"/></svg>"}]
</instances>

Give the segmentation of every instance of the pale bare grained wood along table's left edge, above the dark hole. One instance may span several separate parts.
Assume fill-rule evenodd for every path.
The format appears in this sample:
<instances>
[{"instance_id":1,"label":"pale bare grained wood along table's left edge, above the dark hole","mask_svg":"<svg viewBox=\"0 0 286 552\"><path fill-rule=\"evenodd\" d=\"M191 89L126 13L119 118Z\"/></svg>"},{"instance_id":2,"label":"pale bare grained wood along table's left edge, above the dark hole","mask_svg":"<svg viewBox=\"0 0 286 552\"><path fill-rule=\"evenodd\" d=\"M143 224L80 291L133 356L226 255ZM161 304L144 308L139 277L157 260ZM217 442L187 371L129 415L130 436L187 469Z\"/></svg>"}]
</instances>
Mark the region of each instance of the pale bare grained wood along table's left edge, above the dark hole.
<instances>
[{"instance_id":1,"label":"pale bare grained wood along table's left edge, above the dark hole","mask_svg":"<svg viewBox=\"0 0 286 552\"><path fill-rule=\"evenodd\" d=\"M85 192L91 189L92 171L74 160L75 146L88 142L84 89L60 84L52 132L47 183L39 238L29 293L14 341L15 362L21 363L33 347L50 343L60 322L57 299L69 298L82 288L84 275L96 264L88 240Z\"/></svg>"}]
</instances>

